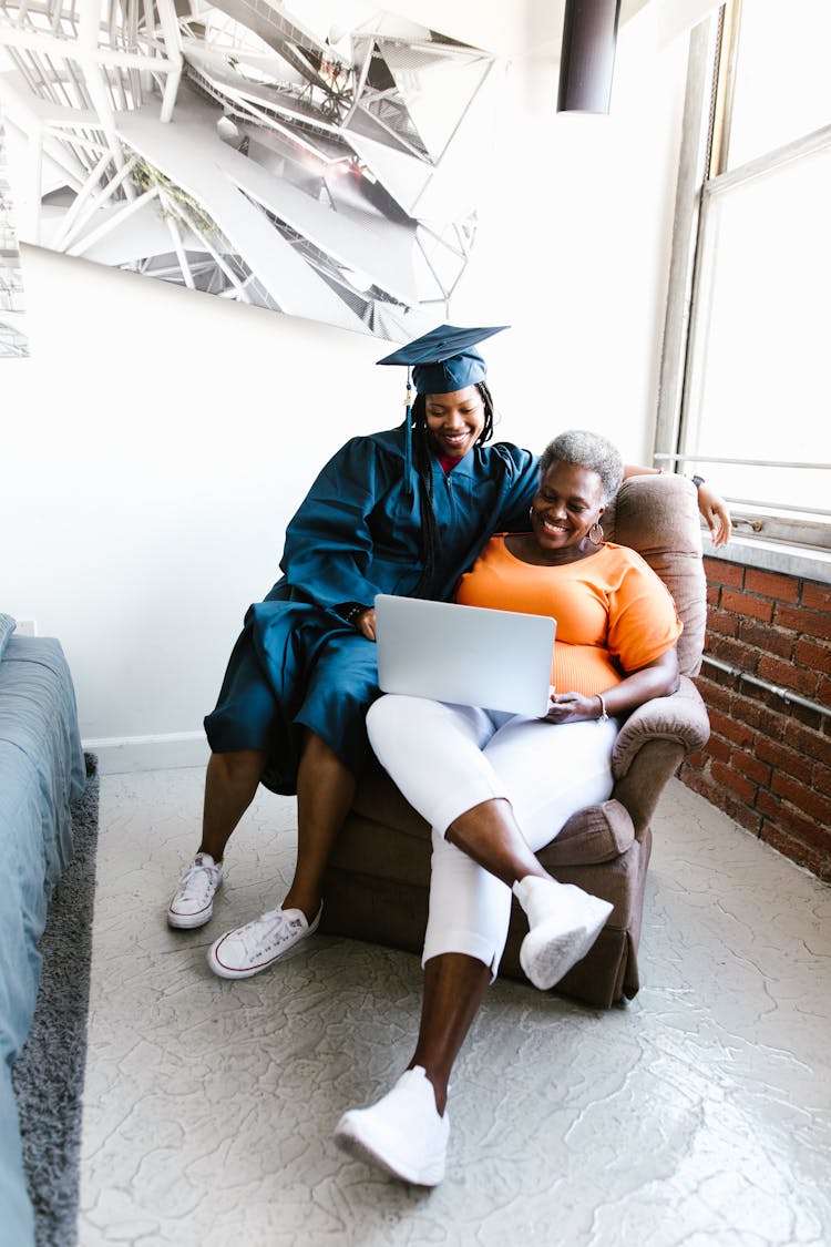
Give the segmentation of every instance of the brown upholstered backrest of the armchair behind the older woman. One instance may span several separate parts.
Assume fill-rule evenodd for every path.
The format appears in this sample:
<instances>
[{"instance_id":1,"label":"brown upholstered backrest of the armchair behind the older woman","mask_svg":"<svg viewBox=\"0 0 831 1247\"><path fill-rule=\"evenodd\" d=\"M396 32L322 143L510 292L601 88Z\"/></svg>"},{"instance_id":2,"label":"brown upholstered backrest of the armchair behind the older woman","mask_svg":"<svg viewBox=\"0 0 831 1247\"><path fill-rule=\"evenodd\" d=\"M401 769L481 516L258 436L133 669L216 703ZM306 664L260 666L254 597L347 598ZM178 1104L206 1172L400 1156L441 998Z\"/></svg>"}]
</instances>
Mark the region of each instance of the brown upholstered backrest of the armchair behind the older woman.
<instances>
[{"instance_id":1,"label":"brown upholstered backrest of the armchair behind the older woman","mask_svg":"<svg viewBox=\"0 0 831 1247\"><path fill-rule=\"evenodd\" d=\"M698 675L706 624L706 581L695 486L678 475L630 476L603 515L609 541L637 550L669 589L684 631L678 665Z\"/></svg>"}]
</instances>

